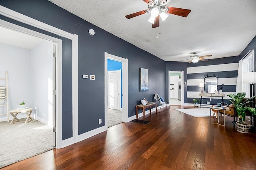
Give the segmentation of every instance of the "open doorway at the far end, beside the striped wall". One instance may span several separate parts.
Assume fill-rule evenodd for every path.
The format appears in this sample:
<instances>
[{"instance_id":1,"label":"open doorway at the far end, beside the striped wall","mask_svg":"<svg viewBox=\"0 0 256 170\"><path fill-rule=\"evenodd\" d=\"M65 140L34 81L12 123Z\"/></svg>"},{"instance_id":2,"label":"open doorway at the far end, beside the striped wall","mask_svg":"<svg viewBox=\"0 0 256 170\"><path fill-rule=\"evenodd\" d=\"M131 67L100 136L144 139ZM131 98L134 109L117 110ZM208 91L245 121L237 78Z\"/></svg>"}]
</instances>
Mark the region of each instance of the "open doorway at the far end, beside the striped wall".
<instances>
[{"instance_id":1,"label":"open doorway at the far end, beside the striped wall","mask_svg":"<svg viewBox=\"0 0 256 170\"><path fill-rule=\"evenodd\" d=\"M168 91L170 105L184 104L183 71L168 71Z\"/></svg>"}]
</instances>

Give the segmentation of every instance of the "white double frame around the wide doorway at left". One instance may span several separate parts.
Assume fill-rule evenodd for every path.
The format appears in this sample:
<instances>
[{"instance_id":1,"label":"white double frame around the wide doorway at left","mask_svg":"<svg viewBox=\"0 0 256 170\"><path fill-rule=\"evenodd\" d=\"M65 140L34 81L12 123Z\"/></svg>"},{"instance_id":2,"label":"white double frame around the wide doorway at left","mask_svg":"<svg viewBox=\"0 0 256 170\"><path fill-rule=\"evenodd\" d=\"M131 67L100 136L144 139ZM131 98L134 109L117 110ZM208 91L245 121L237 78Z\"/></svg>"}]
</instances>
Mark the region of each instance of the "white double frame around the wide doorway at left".
<instances>
[{"instance_id":1,"label":"white double frame around the wide doorway at left","mask_svg":"<svg viewBox=\"0 0 256 170\"><path fill-rule=\"evenodd\" d=\"M33 27L54 33L61 37L72 40L72 131L73 136L69 139L62 141L62 40L50 37L48 35L0 20L0 25L9 29L14 29L23 33L34 35L43 39L53 41L57 44L56 56L56 148L60 149L73 143L78 142L78 36L68 33L41 21L35 20L4 6L0 6L0 14L22 23L26 23Z\"/></svg>"}]
</instances>

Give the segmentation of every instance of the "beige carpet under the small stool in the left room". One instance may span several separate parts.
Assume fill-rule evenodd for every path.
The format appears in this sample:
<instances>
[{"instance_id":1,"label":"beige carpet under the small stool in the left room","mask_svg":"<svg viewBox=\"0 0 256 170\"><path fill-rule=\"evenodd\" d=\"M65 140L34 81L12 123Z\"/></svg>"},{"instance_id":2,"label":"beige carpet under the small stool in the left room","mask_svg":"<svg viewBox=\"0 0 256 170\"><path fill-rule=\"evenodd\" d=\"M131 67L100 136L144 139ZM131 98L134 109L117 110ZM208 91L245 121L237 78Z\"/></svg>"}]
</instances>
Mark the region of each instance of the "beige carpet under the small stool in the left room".
<instances>
[{"instance_id":1,"label":"beige carpet under the small stool in the left room","mask_svg":"<svg viewBox=\"0 0 256 170\"><path fill-rule=\"evenodd\" d=\"M52 135L52 128L37 120L0 122L0 168L53 149Z\"/></svg>"}]
</instances>

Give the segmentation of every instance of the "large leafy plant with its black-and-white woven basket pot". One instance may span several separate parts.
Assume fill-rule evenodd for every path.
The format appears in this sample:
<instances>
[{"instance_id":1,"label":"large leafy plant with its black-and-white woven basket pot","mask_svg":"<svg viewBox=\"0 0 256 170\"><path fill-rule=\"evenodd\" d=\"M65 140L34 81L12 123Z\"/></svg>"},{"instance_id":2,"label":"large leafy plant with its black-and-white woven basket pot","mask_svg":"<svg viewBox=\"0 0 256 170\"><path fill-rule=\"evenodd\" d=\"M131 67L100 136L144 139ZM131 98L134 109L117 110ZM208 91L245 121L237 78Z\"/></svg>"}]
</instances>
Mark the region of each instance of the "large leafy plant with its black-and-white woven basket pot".
<instances>
[{"instance_id":1,"label":"large leafy plant with its black-and-white woven basket pot","mask_svg":"<svg viewBox=\"0 0 256 170\"><path fill-rule=\"evenodd\" d=\"M236 108L236 112L239 118L239 121L236 122L236 128L238 132L241 133L248 133L250 125L245 123L246 113L245 111L250 111L253 115L256 115L256 109L254 107L250 107L249 103L252 102L252 99L256 98L256 96L253 96L251 98L248 98L244 100L246 93L238 93L236 95L234 94L228 94L232 100L230 102L233 103L234 107Z\"/></svg>"}]
</instances>

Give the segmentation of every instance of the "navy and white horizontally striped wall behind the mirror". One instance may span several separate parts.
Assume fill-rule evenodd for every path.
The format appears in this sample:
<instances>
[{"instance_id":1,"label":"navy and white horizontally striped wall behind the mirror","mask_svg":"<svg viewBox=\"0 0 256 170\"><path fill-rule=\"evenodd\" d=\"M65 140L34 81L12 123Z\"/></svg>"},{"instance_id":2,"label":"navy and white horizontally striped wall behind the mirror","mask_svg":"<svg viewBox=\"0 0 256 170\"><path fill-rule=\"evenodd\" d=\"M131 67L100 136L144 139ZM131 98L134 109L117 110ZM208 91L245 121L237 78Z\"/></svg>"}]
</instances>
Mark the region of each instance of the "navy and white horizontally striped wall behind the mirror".
<instances>
[{"instance_id":1,"label":"navy and white horizontally striped wall behind the mirror","mask_svg":"<svg viewBox=\"0 0 256 170\"><path fill-rule=\"evenodd\" d=\"M209 60L210 61L210 60ZM216 63L216 62L215 62ZM192 66L187 67L187 102L193 103L193 99L200 99L199 93L201 88L199 87L200 82L204 82L204 77L218 76L218 85L224 84L223 93L225 94L224 102L230 103L228 94L236 94L236 80L238 74L239 63L226 63L224 64L213 64L204 66ZM210 64L210 63L209 63ZM204 91L204 88L203 88ZM204 97L202 104L210 101L210 97ZM222 102L220 97L212 97L210 104L217 104Z\"/></svg>"}]
</instances>

